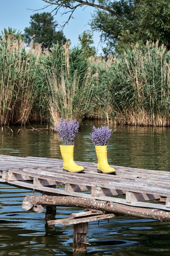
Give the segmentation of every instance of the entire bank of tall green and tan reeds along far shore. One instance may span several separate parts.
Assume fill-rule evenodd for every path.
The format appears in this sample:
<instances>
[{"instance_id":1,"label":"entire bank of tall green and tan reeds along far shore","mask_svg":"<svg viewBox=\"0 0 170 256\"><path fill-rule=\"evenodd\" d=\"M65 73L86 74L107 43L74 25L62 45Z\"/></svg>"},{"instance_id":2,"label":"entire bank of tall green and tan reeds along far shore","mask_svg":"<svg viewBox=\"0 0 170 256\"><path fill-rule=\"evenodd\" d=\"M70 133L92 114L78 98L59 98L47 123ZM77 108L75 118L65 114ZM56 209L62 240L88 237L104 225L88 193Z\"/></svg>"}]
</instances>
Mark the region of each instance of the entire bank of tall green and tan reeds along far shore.
<instances>
[{"instance_id":1,"label":"entire bank of tall green and tan reeds along far shore","mask_svg":"<svg viewBox=\"0 0 170 256\"><path fill-rule=\"evenodd\" d=\"M86 58L79 47L0 41L0 125L60 117L170 126L170 52L136 45L118 58Z\"/></svg>"}]
</instances>

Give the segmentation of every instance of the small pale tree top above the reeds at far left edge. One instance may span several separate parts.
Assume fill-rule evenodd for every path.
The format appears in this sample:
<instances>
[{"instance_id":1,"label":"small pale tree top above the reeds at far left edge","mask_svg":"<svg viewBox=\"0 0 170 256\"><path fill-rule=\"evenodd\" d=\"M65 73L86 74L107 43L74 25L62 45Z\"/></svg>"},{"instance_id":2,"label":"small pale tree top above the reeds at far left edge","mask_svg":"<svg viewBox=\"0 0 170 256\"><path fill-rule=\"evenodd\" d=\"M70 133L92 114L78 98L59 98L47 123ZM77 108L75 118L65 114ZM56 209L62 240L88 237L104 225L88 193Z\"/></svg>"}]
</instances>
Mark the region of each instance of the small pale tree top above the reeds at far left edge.
<instances>
[{"instance_id":1,"label":"small pale tree top above the reeds at far left edge","mask_svg":"<svg viewBox=\"0 0 170 256\"><path fill-rule=\"evenodd\" d=\"M12 29L11 27L8 27L8 30L4 28L4 31L1 31L2 36L0 35L0 39L5 38L6 40L8 38L11 38L12 40L24 40L24 36L22 35L22 32L20 30Z\"/></svg>"}]
</instances>

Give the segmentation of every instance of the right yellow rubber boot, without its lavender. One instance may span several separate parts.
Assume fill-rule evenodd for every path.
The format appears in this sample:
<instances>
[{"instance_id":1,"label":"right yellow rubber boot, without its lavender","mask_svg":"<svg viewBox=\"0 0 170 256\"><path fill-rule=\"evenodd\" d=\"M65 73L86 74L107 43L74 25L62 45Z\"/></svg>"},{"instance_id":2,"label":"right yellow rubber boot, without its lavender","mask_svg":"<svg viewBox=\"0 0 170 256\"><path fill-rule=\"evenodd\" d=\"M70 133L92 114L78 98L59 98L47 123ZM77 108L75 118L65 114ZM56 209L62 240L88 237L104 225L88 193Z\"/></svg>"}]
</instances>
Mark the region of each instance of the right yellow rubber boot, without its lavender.
<instances>
[{"instance_id":1,"label":"right yellow rubber boot, without its lavender","mask_svg":"<svg viewBox=\"0 0 170 256\"><path fill-rule=\"evenodd\" d=\"M107 146L95 146L97 155L97 171L98 173L116 174L116 170L108 164Z\"/></svg>"}]
</instances>

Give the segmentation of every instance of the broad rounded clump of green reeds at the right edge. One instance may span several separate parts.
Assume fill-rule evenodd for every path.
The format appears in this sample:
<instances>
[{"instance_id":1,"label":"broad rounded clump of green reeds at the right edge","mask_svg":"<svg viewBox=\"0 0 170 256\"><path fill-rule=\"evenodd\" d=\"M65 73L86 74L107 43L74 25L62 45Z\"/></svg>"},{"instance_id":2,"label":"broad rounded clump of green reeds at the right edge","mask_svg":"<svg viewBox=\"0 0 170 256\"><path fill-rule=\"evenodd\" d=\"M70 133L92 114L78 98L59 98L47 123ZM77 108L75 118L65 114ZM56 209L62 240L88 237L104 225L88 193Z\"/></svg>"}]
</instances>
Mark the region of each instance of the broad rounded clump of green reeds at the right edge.
<instances>
[{"instance_id":1,"label":"broad rounded clump of green reeds at the right edge","mask_svg":"<svg viewBox=\"0 0 170 256\"><path fill-rule=\"evenodd\" d=\"M170 53L138 45L112 65L112 108L117 124L170 124Z\"/></svg>"}]
</instances>

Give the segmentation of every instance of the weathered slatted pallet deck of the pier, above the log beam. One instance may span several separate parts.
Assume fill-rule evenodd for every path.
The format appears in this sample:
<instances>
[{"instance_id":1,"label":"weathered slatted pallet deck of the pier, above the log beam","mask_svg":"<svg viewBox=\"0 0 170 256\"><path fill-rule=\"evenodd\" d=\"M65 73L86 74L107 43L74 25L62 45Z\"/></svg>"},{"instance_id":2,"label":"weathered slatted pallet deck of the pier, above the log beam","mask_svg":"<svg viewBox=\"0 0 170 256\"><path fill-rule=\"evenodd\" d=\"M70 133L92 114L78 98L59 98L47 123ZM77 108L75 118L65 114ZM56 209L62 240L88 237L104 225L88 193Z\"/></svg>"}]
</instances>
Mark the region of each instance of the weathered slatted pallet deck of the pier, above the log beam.
<instances>
[{"instance_id":1,"label":"weathered slatted pallet deck of the pier, above the log beam","mask_svg":"<svg viewBox=\"0 0 170 256\"><path fill-rule=\"evenodd\" d=\"M160 218L153 211L148 218L170 220L170 172L113 166L116 175L108 175L97 173L96 163L76 162L84 166L84 173L69 173L62 171L62 163L60 159L0 155L0 183L46 195L71 196L75 205L77 198L82 198L139 207L139 217L146 208L157 209ZM106 211L110 208L108 205ZM122 214L121 209L117 213ZM125 214L133 216L133 212Z\"/></svg>"}]
</instances>

